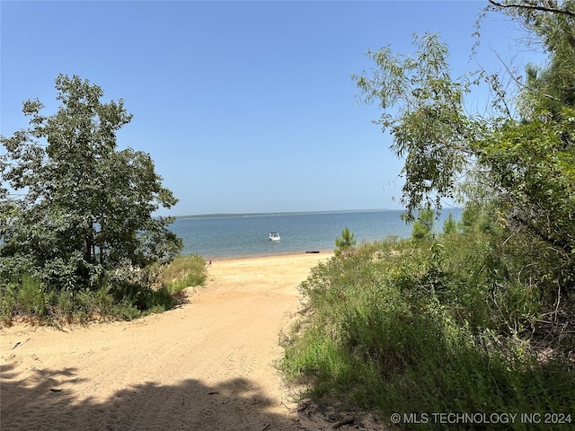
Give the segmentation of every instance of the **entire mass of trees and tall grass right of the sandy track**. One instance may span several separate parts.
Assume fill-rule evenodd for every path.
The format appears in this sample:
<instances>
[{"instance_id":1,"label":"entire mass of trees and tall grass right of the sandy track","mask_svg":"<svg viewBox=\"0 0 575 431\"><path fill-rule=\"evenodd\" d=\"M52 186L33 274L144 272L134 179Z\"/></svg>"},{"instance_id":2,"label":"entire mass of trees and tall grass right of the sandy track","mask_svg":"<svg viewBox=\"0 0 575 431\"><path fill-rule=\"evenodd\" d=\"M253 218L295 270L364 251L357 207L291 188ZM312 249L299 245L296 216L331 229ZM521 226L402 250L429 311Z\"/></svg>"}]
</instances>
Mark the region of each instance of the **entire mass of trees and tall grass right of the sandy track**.
<instances>
[{"instance_id":1,"label":"entire mass of trees and tall grass right of the sandy track","mask_svg":"<svg viewBox=\"0 0 575 431\"><path fill-rule=\"evenodd\" d=\"M362 101L379 102L376 123L404 160L405 218L440 208L442 198L467 201L444 234L432 237L433 217L420 213L418 241L364 244L300 285L305 313L282 365L316 398L334 394L385 419L398 411L571 413L575 405L575 4L490 3L549 54L548 65L528 66L525 82L512 77L516 92L499 73L454 79L447 46L431 34L415 38L412 57L369 52L376 68L355 76ZM464 110L482 79L493 117Z\"/></svg>"}]
</instances>

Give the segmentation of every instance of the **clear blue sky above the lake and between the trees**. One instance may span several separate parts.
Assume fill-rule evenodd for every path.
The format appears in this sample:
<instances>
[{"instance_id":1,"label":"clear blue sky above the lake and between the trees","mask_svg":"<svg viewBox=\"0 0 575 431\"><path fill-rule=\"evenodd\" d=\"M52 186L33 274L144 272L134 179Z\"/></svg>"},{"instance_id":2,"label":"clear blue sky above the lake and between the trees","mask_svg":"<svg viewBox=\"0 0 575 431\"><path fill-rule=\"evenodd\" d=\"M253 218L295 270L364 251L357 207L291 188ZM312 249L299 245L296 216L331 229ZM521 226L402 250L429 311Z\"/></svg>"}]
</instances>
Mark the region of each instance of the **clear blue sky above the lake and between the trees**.
<instances>
[{"instance_id":1,"label":"clear blue sky above the lake and between the trees","mask_svg":"<svg viewBox=\"0 0 575 431\"><path fill-rule=\"evenodd\" d=\"M366 51L433 31L455 75L541 59L498 13L470 58L486 1L0 4L0 133L27 126L27 99L55 112L59 73L100 85L134 115L119 148L150 153L180 199L162 215L399 208L402 162L350 77Z\"/></svg>"}]
</instances>

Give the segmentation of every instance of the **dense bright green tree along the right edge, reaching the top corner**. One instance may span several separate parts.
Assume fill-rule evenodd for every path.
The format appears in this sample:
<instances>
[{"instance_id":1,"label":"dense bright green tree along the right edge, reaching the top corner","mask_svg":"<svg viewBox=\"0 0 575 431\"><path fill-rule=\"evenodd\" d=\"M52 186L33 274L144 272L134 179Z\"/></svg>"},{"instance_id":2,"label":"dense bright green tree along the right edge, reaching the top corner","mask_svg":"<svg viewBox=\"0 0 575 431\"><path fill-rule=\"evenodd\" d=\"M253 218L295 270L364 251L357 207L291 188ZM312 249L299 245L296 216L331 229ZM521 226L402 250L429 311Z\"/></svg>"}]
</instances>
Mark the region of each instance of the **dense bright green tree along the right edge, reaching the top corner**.
<instances>
[{"instance_id":1,"label":"dense bright green tree along the right edge, reaching the top corner","mask_svg":"<svg viewBox=\"0 0 575 431\"><path fill-rule=\"evenodd\" d=\"M529 65L509 119L477 145L503 223L529 235L534 279L575 290L575 2L494 2L541 42L549 62ZM538 245L535 245L538 244ZM533 274L529 274L533 276ZM558 298L559 301L559 298Z\"/></svg>"}]
</instances>

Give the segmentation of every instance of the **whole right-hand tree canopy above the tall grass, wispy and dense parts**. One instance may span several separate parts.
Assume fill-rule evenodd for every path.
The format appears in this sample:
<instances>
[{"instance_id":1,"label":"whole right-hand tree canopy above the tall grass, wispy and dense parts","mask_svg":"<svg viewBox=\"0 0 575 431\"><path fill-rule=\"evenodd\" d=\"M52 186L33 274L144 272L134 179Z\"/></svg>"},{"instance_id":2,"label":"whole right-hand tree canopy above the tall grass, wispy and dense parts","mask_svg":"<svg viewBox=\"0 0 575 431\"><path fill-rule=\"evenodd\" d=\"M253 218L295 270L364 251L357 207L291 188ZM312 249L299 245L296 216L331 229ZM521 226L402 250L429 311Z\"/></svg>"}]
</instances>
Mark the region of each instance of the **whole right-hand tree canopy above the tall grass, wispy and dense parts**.
<instances>
[{"instance_id":1,"label":"whole right-hand tree canopy above the tall grass, wispy and dense parts","mask_svg":"<svg viewBox=\"0 0 575 431\"><path fill-rule=\"evenodd\" d=\"M539 277L573 291L575 3L492 1L487 9L521 23L548 54L546 65L527 66L525 80L511 77L515 98L501 91L500 73L452 76L447 45L431 33L415 36L412 56L389 47L368 52L376 68L354 78L361 100L379 103L375 122L389 129L391 149L404 160L408 220L420 208L440 209L443 198L489 201L497 224L533 243ZM499 115L464 110L465 95L481 82Z\"/></svg>"}]
</instances>

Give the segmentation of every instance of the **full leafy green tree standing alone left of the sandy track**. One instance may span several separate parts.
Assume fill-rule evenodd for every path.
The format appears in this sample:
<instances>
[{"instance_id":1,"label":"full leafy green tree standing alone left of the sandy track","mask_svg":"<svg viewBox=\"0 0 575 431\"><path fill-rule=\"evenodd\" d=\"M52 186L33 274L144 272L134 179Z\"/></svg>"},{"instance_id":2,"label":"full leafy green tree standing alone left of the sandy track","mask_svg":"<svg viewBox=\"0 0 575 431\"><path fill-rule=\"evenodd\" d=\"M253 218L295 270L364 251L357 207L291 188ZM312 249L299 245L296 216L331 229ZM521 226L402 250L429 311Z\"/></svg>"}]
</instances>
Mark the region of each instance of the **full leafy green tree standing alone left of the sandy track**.
<instances>
[{"instance_id":1,"label":"full leafy green tree standing alone left of the sandy track","mask_svg":"<svg viewBox=\"0 0 575 431\"><path fill-rule=\"evenodd\" d=\"M55 82L57 112L43 116L40 101L25 101L30 127L0 137L0 281L31 273L77 290L170 261L181 240L170 217L153 214L177 199L149 154L117 149L116 132L132 118L123 101L102 102L102 89L78 76Z\"/></svg>"}]
</instances>

